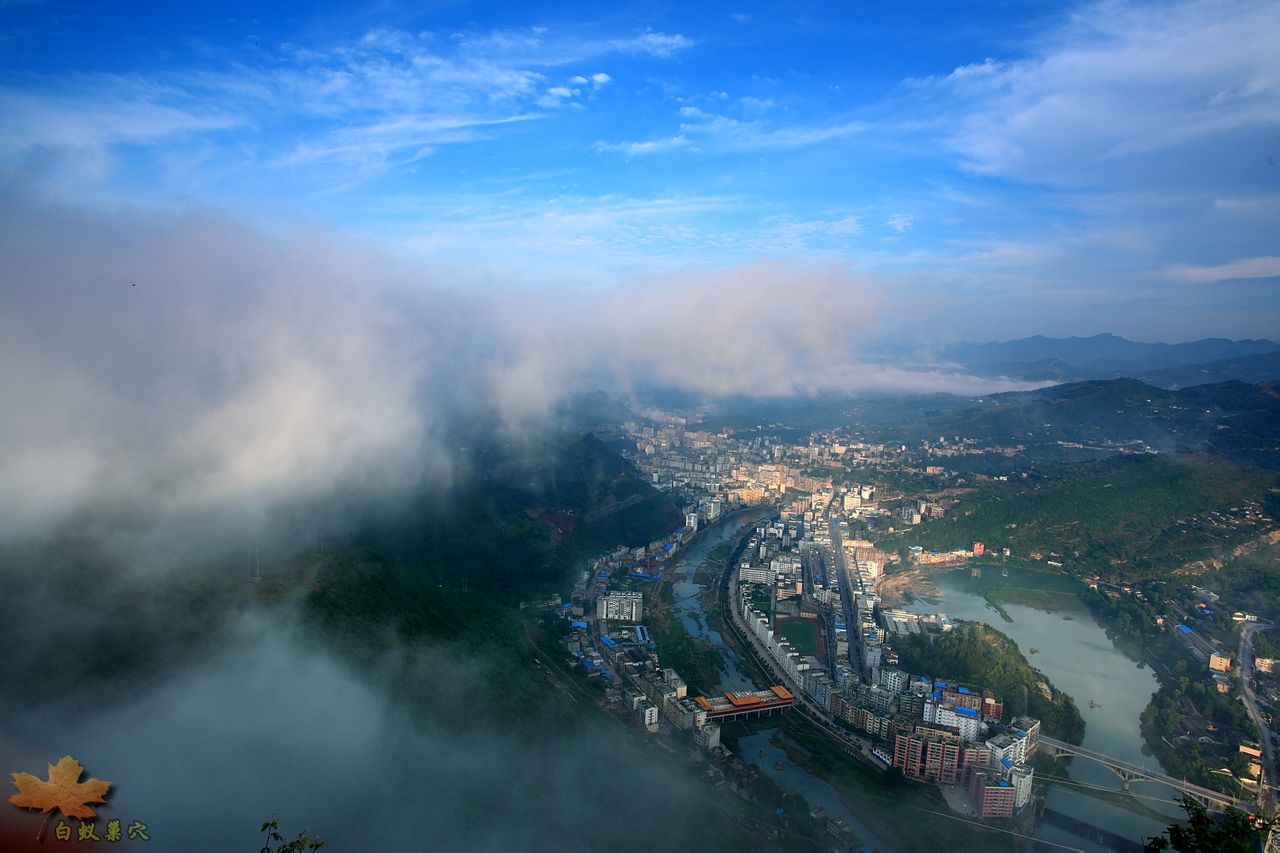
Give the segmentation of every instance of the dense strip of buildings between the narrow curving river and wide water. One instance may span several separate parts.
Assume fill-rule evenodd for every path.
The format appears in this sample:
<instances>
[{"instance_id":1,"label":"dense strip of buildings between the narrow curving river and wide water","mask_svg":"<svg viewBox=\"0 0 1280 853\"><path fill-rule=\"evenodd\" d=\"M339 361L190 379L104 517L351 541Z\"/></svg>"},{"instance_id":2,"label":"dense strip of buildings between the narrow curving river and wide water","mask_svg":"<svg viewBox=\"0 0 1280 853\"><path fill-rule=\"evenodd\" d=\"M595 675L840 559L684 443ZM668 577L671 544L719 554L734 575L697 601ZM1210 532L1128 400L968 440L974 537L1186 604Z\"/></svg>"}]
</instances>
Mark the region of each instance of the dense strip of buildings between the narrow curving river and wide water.
<instances>
[{"instance_id":1,"label":"dense strip of buildings between the narrow curving river and wide water","mask_svg":"<svg viewBox=\"0 0 1280 853\"><path fill-rule=\"evenodd\" d=\"M824 512L850 506L850 497L858 501L851 508L860 508L864 494L855 485L812 496L803 512L755 528L737 565L741 624L810 707L883 744L876 754L886 766L965 785L979 815L1011 816L1032 797L1028 760L1039 722L1019 717L1006 725L991 690L897 669L892 635L942 634L952 624L945 615L881 605L878 555L869 543L844 540L841 521ZM810 640L804 648L787 630L796 619L806 621L799 631Z\"/></svg>"}]
</instances>

